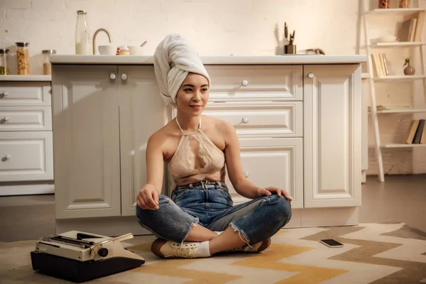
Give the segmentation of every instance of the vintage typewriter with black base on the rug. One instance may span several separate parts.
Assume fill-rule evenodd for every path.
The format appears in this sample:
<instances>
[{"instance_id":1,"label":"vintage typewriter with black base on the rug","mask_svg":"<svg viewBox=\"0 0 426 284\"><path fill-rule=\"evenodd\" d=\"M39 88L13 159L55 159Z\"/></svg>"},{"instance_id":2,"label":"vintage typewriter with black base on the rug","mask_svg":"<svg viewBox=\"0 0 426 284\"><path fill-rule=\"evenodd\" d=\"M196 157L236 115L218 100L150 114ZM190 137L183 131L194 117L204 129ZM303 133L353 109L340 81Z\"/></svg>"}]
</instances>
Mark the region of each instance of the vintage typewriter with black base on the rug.
<instances>
[{"instance_id":1,"label":"vintage typewriter with black base on the rug","mask_svg":"<svg viewBox=\"0 0 426 284\"><path fill-rule=\"evenodd\" d=\"M120 241L132 234L109 237L83 231L67 231L37 241L31 251L33 270L82 283L145 263L142 256L124 249Z\"/></svg>"}]
</instances>

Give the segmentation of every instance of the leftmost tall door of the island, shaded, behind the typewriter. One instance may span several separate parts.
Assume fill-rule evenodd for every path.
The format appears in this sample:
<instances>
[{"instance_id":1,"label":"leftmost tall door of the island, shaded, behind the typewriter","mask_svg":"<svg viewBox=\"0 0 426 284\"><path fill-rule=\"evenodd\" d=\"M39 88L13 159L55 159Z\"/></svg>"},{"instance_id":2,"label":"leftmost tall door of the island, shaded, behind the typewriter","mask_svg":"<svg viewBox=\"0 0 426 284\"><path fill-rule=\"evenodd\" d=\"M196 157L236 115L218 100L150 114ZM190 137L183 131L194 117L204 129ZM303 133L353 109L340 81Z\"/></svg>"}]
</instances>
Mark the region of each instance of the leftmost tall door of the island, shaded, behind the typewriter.
<instances>
[{"instance_id":1,"label":"leftmost tall door of the island, shaded, behind the typewriter","mask_svg":"<svg viewBox=\"0 0 426 284\"><path fill-rule=\"evenodd\" d=\"M119 92L109 77L117 67L55 65L53 72L56 218L118 216Z\"/></svg>"}]
</instances>

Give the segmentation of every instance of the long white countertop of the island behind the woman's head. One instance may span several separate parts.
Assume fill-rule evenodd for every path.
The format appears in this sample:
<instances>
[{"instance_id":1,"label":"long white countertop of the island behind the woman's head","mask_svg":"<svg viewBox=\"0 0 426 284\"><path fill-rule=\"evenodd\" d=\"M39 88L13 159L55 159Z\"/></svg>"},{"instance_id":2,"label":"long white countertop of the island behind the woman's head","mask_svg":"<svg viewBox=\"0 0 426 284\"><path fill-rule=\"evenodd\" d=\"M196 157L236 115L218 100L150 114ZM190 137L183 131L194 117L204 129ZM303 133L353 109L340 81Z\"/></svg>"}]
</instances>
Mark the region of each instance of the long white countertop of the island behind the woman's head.
<instances>
[{"instance_id":1,"label":"long white countertop of the island behind the woman's head","mask_svg":"<svg viewBox=\"0 0 426 284\"><path fill-rule=\"evenodd\" d=\"M205 65L215 64L348 64L367 61L367 55L271 55L200 56ZM153 56L137 55L51 55L53 64L152 65Z\"/></svg>"}]
</instances>

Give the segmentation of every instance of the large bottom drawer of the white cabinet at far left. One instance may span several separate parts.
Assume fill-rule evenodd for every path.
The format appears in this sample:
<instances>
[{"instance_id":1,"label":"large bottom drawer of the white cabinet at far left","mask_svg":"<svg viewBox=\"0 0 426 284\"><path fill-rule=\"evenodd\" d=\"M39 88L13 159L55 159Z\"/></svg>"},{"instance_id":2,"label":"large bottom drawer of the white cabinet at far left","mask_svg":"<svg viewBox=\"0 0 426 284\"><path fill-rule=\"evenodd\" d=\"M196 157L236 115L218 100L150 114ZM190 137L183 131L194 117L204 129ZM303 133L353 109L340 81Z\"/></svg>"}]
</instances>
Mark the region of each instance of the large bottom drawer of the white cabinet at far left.
<instances>
[{"instance_id":1,"label":"large bottom drawer of the white cabinet at far left","mask_svg":"<svg viewBox=\"0 0 426 284\"><path fill-rule=\"evenodd\" d=\"M53 180L52 132L3 132L0 182Z\"/></svg>"}]
</instances>

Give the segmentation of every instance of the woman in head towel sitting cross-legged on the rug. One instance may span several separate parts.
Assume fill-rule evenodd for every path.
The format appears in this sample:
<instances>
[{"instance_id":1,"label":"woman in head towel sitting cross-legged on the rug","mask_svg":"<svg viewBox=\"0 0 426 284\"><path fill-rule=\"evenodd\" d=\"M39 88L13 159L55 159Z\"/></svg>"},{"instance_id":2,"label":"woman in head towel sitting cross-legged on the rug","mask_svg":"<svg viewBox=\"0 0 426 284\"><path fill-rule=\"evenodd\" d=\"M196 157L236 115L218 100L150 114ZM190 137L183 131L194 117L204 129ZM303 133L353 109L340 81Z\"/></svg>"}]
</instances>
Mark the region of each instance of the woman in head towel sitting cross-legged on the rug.
<instances>
[{"instance_id":1,"label":"woman in head towel sitting cross-legged on the rug","mask_svg":"<svg viewBox=\"0 0 426 284\"><path fill-rule=\"evenodd\" d=\"M292 197L244 177L234 126L202 114L211 82L185 38L168 35L155 50L154 68L161 96L177 114L146 148L148 182L138 194L136 217L158 237L151 250L161 258L201 258L268 248L290 221ZM171 199L160 194L164 161L176 185ZM236 192L251 201L233 206L226 170Z\"/></svg>"}]
</instances>

